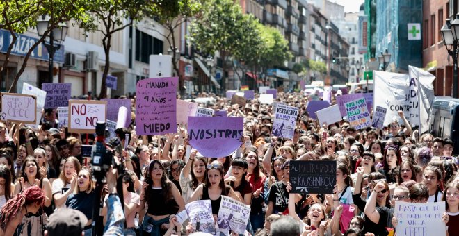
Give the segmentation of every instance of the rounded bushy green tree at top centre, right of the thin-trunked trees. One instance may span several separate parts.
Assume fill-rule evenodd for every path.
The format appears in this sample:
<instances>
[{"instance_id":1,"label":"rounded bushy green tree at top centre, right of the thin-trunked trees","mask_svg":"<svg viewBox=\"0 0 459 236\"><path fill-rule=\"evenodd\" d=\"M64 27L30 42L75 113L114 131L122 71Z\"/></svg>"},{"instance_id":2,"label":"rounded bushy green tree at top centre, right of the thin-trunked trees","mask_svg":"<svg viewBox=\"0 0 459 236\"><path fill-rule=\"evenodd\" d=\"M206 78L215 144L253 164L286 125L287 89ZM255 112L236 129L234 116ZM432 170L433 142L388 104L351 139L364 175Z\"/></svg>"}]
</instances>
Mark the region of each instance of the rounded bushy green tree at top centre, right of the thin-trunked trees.
<instances>
[{"instance_id":1,"label":"rounded bushy green tree at top centre, right of the thin-trunked trees","mask_svg":"<svg viewBox=\"0 0 459 236\"><path fill-rule=\"evenodd\" d=\"M219 51L225 71L227 58L239 47L239 40L245 37L246 32L240 31L243 19L241 7L232 0L206 1L201 14L191 22L191 42L204 56ZM226 78L222 76L223 91L226 90L225 82Z\"/></svg>"}]
</instances>

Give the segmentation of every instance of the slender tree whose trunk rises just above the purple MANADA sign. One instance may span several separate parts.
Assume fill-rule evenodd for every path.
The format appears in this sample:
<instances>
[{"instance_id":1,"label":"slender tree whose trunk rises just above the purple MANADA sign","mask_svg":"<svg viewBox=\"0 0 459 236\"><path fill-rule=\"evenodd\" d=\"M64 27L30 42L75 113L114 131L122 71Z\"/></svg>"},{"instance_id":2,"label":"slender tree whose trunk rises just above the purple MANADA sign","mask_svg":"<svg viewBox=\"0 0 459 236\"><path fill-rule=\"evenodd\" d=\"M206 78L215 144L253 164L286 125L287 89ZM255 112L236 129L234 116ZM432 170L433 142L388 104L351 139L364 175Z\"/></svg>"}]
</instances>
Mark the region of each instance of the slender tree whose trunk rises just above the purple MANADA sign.
<instances>
[{"instance_id":1,"label":"slender tree whose trunk rises just above the purple MANADA sign","mask_svg":"<svg viewBox=\"0 0 459 236\"><path fill-rule=\"evenodd\" d=\"M188 21L189 17L195 16L201 10L201 3L197 0L163 0L157 1L156 4L145 8L145 16L154 18L157 22L166 27L166 33L153 28L156 33L162 35L168 41L170 50L172 50L172 66L175 74L179 76L179 90L184 94L184 78L180 74L177 62L180 58L176 58L175 50L177 49L175 41L175 29L178 26Z\"/></svg>"}]
</instances>

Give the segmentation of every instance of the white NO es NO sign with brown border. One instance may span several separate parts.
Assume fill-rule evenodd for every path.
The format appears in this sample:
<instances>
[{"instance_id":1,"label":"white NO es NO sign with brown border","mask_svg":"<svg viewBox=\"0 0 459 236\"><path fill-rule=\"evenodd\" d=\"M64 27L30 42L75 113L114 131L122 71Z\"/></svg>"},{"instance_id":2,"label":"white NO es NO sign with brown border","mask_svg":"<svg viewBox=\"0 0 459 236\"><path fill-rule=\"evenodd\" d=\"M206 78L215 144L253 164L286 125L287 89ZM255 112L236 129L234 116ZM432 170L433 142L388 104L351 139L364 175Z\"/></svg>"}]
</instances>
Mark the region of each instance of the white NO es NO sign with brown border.
<instances>
[{"instance_id":1,"label":"white NO es NO sign with brown border","mask_svg":"<svg viewBox=\"0 0 459 236\"><path fill-rule=\"evenodd\" d=\"M69 132L95 133L97 121L106 121L107 101L70 100Z\"/></svg>"}]
</instances>

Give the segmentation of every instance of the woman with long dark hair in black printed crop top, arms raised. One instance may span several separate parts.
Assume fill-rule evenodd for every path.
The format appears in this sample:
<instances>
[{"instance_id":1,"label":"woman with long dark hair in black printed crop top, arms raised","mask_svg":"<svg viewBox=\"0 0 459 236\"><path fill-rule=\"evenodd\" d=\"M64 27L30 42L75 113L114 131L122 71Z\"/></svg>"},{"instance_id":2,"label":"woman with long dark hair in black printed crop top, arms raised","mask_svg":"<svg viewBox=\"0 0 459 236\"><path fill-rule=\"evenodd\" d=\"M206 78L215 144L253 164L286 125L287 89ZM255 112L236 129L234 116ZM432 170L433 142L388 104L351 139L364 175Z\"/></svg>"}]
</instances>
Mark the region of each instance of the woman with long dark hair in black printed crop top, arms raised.
<instances>
[{"instance_id":1,"label":"woman with long dark hair in black printed crop top, arms raised","mask_svg":"<svg viewBox=\"0 0 459 236\"><path fill-rule=\"evenodd\" d=\"M169 228L170 215L185 209L184 199L179 189L166 177L166 169L161 161L152 160L144 176L140 209L147 206L147 213L143 217L141 230L143 235L164 235Z\"/></svg>"}]
</instances>

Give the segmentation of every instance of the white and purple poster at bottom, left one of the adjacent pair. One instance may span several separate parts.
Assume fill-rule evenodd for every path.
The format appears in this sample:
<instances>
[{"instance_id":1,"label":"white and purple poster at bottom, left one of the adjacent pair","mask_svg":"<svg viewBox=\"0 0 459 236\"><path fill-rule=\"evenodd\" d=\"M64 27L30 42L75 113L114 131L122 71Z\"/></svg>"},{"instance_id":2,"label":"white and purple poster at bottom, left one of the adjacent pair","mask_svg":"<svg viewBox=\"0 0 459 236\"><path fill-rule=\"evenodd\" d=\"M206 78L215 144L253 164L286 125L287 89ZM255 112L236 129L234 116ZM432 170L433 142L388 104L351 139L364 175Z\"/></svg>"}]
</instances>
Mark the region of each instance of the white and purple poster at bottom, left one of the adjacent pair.
<instances>
[{"instance_id":1,"label":"white and purple poster at bottom, left one of the adjacent pair","mask_svg":"<svg viewBox=\"0 0 459 236\"><path fill-rule=\"evenodd\" d=\"M210 200L192 201L185 205L186 213L193 228L198 232L216 233Z\"/></svg>"}]
</instances>

